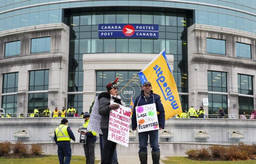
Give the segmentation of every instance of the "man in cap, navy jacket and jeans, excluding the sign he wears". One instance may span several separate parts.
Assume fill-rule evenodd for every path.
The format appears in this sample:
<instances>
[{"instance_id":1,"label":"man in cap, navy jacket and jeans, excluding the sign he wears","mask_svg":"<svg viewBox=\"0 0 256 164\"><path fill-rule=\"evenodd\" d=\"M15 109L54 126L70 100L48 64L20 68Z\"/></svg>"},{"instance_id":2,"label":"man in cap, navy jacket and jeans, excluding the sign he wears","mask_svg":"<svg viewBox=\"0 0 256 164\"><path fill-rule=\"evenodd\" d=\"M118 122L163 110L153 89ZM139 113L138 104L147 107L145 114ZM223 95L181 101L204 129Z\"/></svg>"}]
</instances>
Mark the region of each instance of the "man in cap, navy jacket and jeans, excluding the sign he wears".
<instances>
[{"instance_id":1,"label":"man in cap, navy jacket and jeans, excluding the sign he wears","mask_svg":"<svg viewBox=\"0 0 256 164\"><path fill-rule=\"evenodd\" d=\"M132 113L132 130L137 128L137 119L136 119L136 106L142 106L147 104L155 103L158 115L159 130L165 128L165 110L158 94L153 93L151 83L146 81L143 83L142 91L140 95L136 98L133 107ZM140 163L147 163L147 141L148 135L150 137L150 147L152 148L151 155L153 164L159 164L160 160L160 149L158 145L158 130L151 130L146 132L139 133L139 158Z\"/></svg>"}]
</instances>

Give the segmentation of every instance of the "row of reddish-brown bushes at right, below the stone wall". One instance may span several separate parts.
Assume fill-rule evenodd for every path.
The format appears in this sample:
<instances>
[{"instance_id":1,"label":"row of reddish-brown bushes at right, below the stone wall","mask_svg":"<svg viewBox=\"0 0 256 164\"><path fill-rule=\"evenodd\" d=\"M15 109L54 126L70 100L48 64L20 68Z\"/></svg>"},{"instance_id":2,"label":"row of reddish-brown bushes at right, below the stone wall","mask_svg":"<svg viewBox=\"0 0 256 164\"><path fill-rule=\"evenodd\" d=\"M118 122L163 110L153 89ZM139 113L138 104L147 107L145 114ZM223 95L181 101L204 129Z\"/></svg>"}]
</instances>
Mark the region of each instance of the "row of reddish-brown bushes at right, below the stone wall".
<instances>
[{"instance_id":1,"label":"row of reddish-brown bushes at right, below the stone wall","mask_svg":"<svg viewBox=\"0 0 256 164\"><path fill-rule=\"evenodd\" d=\"M189 158L196 160L250 160L256 154L256 144L240 143L231 146L210 146L203 149L192 149L186 152Z\"/></svg>"}]
</instances>

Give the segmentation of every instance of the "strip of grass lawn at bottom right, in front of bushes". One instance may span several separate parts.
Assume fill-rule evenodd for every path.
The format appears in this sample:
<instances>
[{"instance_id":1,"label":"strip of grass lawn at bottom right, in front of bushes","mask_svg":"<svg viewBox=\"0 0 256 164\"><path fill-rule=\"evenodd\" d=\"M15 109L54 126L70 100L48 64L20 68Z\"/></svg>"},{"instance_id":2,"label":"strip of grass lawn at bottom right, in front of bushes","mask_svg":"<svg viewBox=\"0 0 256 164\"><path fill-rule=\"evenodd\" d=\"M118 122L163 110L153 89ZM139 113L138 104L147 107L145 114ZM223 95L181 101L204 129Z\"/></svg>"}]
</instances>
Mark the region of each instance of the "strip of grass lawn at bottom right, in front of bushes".
<instances>
[{"instance_id":1,"label":"strip of grass lawn at bottom right, in front of bushes","mask_svg":"<svg viewBox=\"0 0 256 164\"><path fill-rule=\"evenodd\" d=\"M165 164L255 164L256 160L251 161L197 161L188 157L166 157Z\"/></svg>"}]
</instances>

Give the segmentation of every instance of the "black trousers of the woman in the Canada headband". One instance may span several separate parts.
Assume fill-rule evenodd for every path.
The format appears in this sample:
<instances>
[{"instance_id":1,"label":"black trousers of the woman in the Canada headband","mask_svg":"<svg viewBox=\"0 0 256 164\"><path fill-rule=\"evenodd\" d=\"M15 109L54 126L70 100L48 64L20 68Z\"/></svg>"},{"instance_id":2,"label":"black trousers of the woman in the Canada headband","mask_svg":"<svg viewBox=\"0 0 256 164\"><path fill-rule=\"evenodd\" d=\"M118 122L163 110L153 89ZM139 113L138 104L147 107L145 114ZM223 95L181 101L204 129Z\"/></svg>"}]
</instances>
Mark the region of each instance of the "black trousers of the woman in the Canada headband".
<instances>
[{"instance_id":1,"label":"black trousers of the woman in the Canada headband","mask_svg":"<svg viewBox=\"0 0 256 164\"><path fill-rule=\"evenodd\" d=\"M116 148L116 142L108 140L109 129L101 129L103 134L103 150L101 153L101 164L111 164Z\"/></svg>"}]
</instances>

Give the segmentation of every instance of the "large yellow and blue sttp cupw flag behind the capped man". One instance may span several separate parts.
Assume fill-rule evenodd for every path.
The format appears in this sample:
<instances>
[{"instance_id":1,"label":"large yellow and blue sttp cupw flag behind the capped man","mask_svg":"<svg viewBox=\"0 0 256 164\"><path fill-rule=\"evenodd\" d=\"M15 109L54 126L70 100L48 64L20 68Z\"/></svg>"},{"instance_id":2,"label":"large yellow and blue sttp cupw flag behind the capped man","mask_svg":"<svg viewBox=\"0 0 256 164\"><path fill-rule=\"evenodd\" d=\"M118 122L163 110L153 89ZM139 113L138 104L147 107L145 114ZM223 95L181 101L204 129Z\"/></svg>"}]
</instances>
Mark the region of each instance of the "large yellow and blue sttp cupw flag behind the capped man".
<instances>
[{"instance_id":1,"label":"large yellow and blue sttp cupw flag behind the capped man","mask_svg":"<svg viewBox=\"0 0 256 164\"><path fill-rule=\"evenodd\" d=\"M143 70L139 72L142 83L149 81L154 93L160 95L165 119L181 114L180 97L165 50L160 52Z\"/></svg>"}]
</instances>

